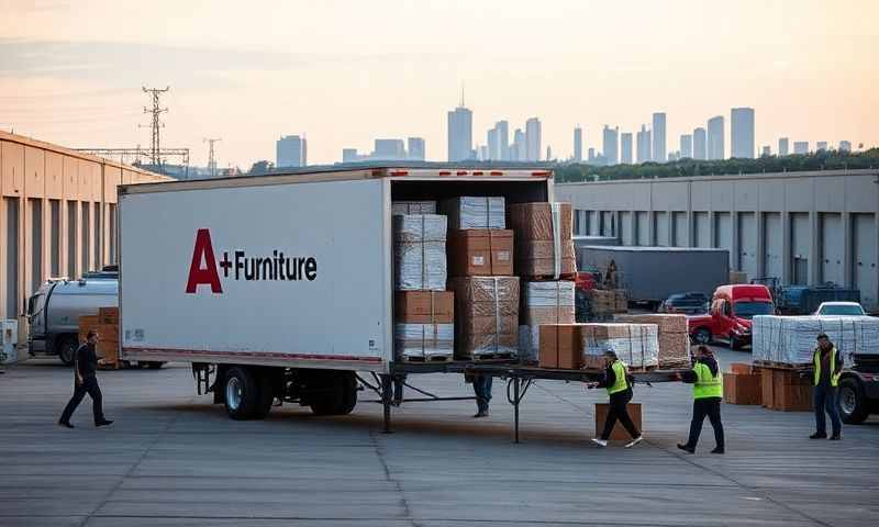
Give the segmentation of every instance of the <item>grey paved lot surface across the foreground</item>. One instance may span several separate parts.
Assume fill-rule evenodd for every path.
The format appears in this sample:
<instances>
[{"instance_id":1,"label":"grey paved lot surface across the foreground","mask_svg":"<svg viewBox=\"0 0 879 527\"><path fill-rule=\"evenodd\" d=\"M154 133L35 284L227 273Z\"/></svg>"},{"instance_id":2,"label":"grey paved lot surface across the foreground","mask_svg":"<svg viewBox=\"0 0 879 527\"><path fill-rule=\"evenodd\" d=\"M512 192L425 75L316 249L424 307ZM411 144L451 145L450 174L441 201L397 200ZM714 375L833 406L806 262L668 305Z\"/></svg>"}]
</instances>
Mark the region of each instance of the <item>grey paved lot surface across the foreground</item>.
<instances>
[{"instance_id":1,"label":"grey paved lot surface across the foreground","mask_svg":"<svg viewBox=\"0 0 879 527\"><path fill-rule=\"evenodd\" d=\"M749 355L724 351L724 362ZM468 395L458 375L411 377ZM233 422L196 396L188 367L101 372L107 414L88 397L74 430L55 425L71 372L31 361L0 375L2 526L571 526L876 525L879 422L810 441L808 413L723 407L727 455L705 426L679 453L690 388L638 386L647 441L593 448L593 403L581 385L543 381L522 405L524 442L496 381L492 415L471 402L410 403L380 433L381 406L346 417L275 408ZM363 399L375 399L369 394Z\"/></svg>"}]
</instances>

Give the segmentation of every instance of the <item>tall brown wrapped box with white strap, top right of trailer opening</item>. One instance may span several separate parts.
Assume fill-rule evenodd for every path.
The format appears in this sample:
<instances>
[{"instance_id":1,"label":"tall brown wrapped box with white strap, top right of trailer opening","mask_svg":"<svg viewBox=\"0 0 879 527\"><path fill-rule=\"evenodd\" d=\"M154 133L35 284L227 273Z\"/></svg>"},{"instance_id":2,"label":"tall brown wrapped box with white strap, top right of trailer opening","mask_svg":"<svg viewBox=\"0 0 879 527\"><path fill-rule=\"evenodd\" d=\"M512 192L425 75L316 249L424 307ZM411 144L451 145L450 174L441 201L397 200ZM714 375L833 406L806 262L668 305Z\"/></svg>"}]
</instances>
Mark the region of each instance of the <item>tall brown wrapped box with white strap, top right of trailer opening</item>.
<instances>
[{"instance_id":1,"label":"tall brown wrapped box with white strap, top right of trailer opening","mask_svg":"<svg viewBox=\"0 0 879 527\"><path fill-rule=\"evenodd\" d=\"M570 203L512 204L510 226L516 239L518 276L558 280L577 272Z\"/></svg>"}]
</instances>

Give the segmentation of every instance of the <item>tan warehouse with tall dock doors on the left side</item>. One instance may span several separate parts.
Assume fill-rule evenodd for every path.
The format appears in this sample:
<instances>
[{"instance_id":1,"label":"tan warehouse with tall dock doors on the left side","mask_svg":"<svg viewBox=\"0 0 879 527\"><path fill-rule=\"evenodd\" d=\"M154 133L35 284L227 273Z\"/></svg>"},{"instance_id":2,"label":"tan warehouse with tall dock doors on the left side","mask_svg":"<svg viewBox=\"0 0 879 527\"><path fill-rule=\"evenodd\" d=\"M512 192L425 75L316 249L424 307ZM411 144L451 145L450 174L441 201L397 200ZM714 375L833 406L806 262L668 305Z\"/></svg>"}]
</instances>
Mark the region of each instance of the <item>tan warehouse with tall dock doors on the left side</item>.
<instances>
[{"instance_id":1,"label":"tan warehouse with tall dock doors on the left side","mask_svg":"<svg viewBox=\"0 0 879 527\"><path fill-rule=\"evenodd\" d=\"M116 261L116 186L168 178L0 132L0 318L49 277ZM21 341L21 338L20 338Z\"/></svg>"}]
</instances>

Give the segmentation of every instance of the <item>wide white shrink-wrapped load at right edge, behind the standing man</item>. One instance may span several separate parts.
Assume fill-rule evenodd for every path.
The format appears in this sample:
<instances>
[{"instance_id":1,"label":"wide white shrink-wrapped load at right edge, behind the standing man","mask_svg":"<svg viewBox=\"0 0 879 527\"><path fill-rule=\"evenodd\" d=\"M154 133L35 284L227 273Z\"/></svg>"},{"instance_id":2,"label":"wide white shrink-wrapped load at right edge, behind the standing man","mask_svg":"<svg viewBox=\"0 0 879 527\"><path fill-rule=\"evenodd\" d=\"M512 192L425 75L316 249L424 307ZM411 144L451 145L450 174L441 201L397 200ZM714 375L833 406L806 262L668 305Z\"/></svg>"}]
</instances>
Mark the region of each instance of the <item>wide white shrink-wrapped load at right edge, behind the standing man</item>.
<instances>
[{"instance_id":1,"label":"wide white shrink-wrapped load at right edge, behind the standing man","mask_svg":"<svg viewBox=\"0 0 879 527\"><path fill-rule=\"evenodd\" d=\"M879 318L869 316L755 316L752 354L755 360L778 365L811 365L820 334L826 334L852 365L853 354L879 354Z\"/></svg>"}]
</instances>

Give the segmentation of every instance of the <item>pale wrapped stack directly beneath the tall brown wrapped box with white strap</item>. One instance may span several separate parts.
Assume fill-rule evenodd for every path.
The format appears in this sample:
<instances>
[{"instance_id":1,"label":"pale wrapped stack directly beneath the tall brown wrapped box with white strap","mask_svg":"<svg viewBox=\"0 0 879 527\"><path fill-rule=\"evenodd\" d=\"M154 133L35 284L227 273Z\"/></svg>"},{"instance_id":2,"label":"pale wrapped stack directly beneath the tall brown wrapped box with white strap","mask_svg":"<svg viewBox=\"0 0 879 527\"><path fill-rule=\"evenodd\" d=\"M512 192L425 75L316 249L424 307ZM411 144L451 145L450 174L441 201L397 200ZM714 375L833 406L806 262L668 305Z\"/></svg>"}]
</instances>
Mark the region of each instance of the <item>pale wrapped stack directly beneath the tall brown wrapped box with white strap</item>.
<instances>
[{"instance_id":1,"label":"pale wrapped stack directly beneath the tall brown wrapped box with white strap","mask_svg":"<svg viewBox=\"0 0 879 527\"><path fill-rule=\"evenodd\" d=\"M574 324L574 282L523 282L520 324L525 338L519 349L525 361L536 362L541 348L539 326L544 324Z\"/></svg>"}]
</instances>

